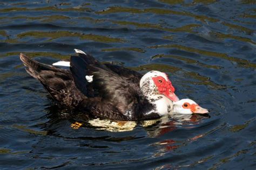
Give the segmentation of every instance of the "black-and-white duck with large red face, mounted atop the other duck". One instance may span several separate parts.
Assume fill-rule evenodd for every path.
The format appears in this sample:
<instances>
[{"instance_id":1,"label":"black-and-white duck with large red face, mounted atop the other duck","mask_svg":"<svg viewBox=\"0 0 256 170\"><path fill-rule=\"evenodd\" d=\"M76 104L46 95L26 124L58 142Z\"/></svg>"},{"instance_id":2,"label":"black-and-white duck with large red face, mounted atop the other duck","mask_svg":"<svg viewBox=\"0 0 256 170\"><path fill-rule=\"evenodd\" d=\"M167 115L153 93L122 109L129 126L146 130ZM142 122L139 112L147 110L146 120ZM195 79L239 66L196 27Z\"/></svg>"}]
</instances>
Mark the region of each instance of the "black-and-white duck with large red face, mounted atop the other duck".
<instances>
[{"instance_id":1,"label":"black-and-white duck with large red face, mounted atop the other duck","mask_svg":"<svg viewBox=\"0 0 256 170\"><path fill-rule=\"evenodd\" d=\"M62 107L100 118L139 121L168 114L172 109L168 96L178 100L165 73L151 71L142 76L121 66L102 64L78 49L75 51L78 56L71 56L70 70L20 55L26 72L39 80ZM155 82L158 77L166 84L160 87L157 84L160 80Z\"/></svg>"}]
</instances>

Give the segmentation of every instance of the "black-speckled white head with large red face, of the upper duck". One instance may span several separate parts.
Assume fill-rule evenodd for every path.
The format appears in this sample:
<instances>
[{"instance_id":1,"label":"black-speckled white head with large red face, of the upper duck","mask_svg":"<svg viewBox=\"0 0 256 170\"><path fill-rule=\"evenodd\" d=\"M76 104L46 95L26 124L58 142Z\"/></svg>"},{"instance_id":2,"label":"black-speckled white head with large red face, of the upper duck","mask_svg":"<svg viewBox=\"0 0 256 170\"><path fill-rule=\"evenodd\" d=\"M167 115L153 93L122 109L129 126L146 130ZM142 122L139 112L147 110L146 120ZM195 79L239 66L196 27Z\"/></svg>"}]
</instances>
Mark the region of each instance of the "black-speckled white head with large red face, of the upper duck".
<instances>
[{"instance_id":1,"label":"black-speckled white head with large red face, of the upper duck","mask_svg":"<svg viewBox=\"0 0 256 170\"><path fill-rule=\"evenodd\" d=\"M152 70L146 73L139 82L140 89L145 97L152 99L159 95L169 98L171 101L178 101L179 98L174 94L175 88L168 79L167 74Z\"/></svg>"}]
</instances>

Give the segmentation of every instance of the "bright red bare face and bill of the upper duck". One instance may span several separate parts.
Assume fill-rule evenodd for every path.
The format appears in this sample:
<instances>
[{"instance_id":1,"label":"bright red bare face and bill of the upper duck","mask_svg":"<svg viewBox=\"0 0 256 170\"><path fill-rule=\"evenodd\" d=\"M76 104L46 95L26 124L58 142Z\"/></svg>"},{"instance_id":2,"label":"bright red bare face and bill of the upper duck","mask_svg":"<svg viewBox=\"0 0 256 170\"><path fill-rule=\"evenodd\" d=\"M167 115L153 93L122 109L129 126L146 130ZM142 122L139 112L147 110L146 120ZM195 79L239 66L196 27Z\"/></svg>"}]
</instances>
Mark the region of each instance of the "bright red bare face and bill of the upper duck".
<instances>
[{"instance_id":1,"label":"bright red bare face and bill of the upper duck","mask_svg":"<svg viewBox=\"0 0 256 170\"><path fill-rule=\"evenodd\" d=\"M172 82L170 80L165 80L162 76L152 77L154 84L156 84L159 94L163 94L166 97L170 98L170 100L176 102L179 98L174 94L175 88L172 86Z\"/></svg>"}]
</instances>

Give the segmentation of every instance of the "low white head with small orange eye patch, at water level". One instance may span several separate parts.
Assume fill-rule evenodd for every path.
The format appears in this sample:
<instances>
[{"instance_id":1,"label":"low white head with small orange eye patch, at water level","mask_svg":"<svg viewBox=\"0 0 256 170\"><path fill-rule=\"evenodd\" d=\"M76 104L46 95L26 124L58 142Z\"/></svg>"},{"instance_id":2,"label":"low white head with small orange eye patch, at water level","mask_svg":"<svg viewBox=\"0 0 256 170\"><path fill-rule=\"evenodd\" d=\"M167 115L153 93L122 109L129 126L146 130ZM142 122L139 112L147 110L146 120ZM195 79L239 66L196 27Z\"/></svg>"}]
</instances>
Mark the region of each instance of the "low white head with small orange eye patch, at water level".
<instances>
[{"instance_id":1,"label":"low white head with small orange eye patch, at water level","mask_svg":"<svg viewBox=\"0 0 256 170\"><path fill-rule=\"evenodd\" d=\"M209 111L200 107L196 102L189 98L173 102L173 112L179 114L207 114Z\"/></svg>"}]
</instances>

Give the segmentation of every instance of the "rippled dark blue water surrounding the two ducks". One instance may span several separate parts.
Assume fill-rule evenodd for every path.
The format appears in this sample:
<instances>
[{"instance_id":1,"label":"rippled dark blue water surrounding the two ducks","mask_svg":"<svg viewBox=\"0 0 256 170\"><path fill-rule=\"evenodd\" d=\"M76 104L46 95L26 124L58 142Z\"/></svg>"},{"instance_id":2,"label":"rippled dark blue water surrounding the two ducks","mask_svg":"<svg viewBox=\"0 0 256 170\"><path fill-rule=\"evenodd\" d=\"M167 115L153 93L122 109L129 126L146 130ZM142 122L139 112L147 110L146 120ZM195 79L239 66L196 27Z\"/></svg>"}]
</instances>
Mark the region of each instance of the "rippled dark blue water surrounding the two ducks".
<instances>
[{"instance_id":1,"label":"rippled dark blue water surrounding the two ducks","mask_svg":"<svg viewBox=\"0 0 256 170\"><path fill-rule=\"evenodd\" d=\"M0 2L0 169L255 169L256 3ZM123 132L57 109L18 58L52 63L82 49L170 75L210 117L171 116ZM78 129L71 128L82 123Z\"/></svg>"}]
</instances>

